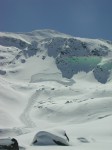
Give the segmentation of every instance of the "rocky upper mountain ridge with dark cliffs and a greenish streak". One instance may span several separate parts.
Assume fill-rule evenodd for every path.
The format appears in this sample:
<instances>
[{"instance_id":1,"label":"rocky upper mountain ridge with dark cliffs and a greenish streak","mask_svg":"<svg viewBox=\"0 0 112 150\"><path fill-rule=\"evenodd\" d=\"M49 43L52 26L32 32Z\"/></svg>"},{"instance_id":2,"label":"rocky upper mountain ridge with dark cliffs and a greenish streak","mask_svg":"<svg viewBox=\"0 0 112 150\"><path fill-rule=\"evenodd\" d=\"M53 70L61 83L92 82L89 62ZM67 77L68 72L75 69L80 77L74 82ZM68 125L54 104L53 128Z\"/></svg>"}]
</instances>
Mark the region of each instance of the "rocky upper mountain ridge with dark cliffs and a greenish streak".
<instances>
[{"instance_id":1,"label":"rocky upper mountain ridge with dark cliffs and a greenish streak","mask_svg":"<svg viewBox=\"0 0 112 150\"><path fill-rule=\"evenodd\" d=\"M93 71L95 78L101 83L106 83L110 78L112 70L111 42L99 39L75 38L47 29L29 33L0 33L1 62L7 61L3 53L4 49L9 49L9 51L14 49L10 55L14 56L15 51L15 58L8 63L12 63L13 66L16 62L25 63L28 58L41 55L42 60L53 57L56 67L65 78L72 78L74 74L80 71ZM6 50L5 53L8 56ZM101 65L104 60L106 60L107 65ZM4 68L1 69L1 75L6 73L4 70Z\"/></svg>"}]
</instances>

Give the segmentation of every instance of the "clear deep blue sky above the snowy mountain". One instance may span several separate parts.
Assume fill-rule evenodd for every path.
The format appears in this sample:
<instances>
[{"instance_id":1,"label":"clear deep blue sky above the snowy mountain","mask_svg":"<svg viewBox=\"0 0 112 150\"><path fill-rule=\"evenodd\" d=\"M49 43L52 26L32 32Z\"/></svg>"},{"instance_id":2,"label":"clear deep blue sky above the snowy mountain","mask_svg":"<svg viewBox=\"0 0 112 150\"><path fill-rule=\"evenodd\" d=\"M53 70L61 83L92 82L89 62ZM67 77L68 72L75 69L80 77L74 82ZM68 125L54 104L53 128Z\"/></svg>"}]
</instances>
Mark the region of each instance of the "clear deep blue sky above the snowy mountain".
<instances>
[{"instance_id":1,"label":"clear deep blue sky above the snowy mountain","mask_svg":"<svg viewBox=\"0 0 112 150\"><path fill-rule=\"evenodd\" d=\"M0 0L0 31L53 29L112 41L112 0Z\"/></svg>"}]
</instances>

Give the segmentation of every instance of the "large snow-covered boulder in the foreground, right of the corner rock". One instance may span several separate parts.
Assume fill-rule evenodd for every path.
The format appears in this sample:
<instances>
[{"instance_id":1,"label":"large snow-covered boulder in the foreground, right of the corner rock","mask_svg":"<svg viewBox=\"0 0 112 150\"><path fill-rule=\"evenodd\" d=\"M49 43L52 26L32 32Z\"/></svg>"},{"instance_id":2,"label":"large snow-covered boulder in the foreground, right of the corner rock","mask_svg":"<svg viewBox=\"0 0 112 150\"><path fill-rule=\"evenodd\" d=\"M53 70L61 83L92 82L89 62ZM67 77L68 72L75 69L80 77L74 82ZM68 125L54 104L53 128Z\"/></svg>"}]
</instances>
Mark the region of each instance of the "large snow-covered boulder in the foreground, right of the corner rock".
<instances>
[{"instance_id":1,"label":"large snow-covered boulder in the foreground, right of the corner rock","mask_svg":"<svg viewBox=\"0 0 112 150\"><path fill-rule=\"evenodd\" d=\"M64 130L40 131L35 135L32 144L69 146L69 138Z\"/></svg>"}]
</instances>

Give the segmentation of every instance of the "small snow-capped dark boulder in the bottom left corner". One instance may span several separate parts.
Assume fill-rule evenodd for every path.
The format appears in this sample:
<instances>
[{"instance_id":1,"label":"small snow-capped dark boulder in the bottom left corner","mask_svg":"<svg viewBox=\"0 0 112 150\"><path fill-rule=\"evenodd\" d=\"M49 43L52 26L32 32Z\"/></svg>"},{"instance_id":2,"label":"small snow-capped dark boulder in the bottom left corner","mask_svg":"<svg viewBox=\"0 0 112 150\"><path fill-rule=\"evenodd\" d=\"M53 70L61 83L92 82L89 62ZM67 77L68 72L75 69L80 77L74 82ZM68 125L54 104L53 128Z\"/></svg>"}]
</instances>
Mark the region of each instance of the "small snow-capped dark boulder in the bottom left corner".
<instances>
[{"instance_id":1,"label":"small snow-capped dark boulder in the bottom left corner","mask_svg":"<svg viewBox=\"0 0 112 150\"><path fill-rule=\"evenodd\" d=\"M1 150L19 150L18 142L16 139L5 138L0 139Z\"/></svg>"}]
</instances>

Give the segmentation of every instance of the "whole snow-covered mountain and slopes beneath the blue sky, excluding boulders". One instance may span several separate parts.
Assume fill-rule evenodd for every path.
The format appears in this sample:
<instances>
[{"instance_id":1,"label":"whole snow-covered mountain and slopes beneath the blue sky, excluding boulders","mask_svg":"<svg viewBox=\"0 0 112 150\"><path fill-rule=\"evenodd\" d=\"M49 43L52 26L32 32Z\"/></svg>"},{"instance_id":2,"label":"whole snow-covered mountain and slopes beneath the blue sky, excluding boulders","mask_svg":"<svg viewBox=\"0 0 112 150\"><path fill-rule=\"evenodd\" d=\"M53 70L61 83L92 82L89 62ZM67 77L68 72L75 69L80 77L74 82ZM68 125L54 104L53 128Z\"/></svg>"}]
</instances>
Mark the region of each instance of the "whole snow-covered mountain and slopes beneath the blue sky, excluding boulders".
<instances>
[{"instance_id":1,"label":"whole snow-covered mountain and slopes beneath the blue sky, excluding boulders","mask_svg":"<svg viewBox=\"0 0 112 150\"><path fill-rule=\"evenodd\" d=\"M50 131L60 128L71 150L111 149L111 83L111 41L54 30L0 32L0 138L35 149L37 132L51 141L57 136Z\"/></svg>"}]
</instances>

